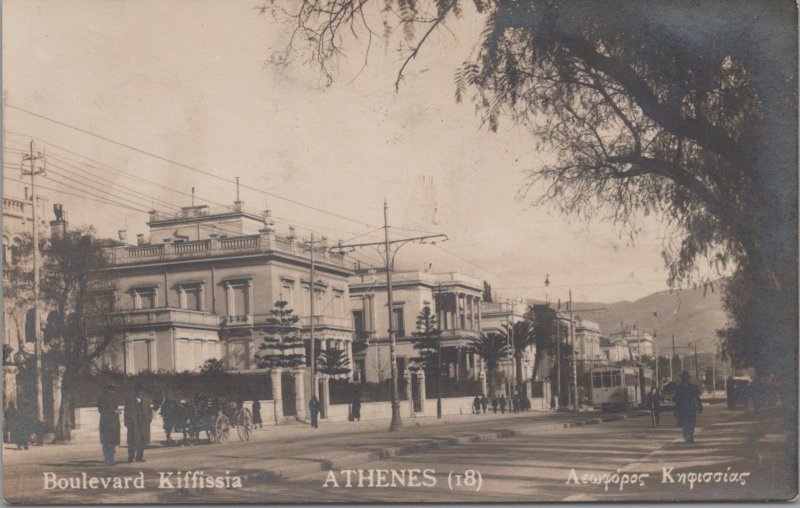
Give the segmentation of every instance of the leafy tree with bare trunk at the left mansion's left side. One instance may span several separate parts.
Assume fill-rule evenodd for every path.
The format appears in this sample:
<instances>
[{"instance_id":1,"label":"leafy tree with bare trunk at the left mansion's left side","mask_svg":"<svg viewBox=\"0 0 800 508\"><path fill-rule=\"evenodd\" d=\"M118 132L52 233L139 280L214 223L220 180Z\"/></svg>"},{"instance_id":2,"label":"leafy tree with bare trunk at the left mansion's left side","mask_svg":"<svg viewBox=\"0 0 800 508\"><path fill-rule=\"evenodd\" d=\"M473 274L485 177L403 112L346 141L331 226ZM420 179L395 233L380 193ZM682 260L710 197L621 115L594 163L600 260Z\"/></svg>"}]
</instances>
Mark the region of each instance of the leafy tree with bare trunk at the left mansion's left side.
<instances>
[{"instance_id":1,"label":"leafy tree with bare trunk at the left mansion's left side","mask_svg":"<svg viewBox=\"0 0 800 508\"><path fill-rule=\"evenodd\" d=\"M74 391L80 389L76 381L97 366L114 341L119 317L105 271L108 261L91 229L54 235L45 244L42 264L41 294L53 309L44 331L43 364L64 369L54 430L56 442L65 442L72 437L71 404Z\"/></svg>"}]
</instances>

